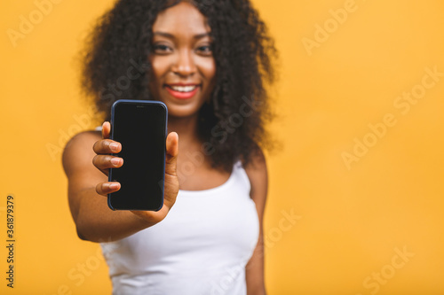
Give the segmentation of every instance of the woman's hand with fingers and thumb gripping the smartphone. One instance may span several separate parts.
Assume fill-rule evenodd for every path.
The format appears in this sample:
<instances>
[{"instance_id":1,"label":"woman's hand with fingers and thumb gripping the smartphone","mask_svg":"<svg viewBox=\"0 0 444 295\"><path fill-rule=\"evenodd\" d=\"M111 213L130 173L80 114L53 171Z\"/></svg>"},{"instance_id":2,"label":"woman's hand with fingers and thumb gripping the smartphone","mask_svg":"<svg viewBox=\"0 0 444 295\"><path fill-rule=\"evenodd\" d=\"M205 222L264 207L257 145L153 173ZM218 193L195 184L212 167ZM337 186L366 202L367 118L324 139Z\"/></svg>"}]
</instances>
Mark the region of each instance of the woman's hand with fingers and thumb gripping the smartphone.
<instances>
[{"instance_id":1,"label":"woman's hand with fingers and thumb gripping the smartphone","mask_svg":"<svg viewBox=\"0 0 444 295\"><path fill-rule=\"evenodd\" d=\"M93 150L96 156L92 163L103 174L108 175L109 168L119 168L123 166L123 159L110 155L122 151L122 144L109 139L111 125L104 122L102 125L102 139L96 142ZM157 212L153 211L131 211L149 223L162 221L170 208L176 202L178 196L178 134L171 132L166 138L166 159L165 159L165 187L163 195L163 207ZM96 186L99 195L107 197L107 194L120 190L119 182L100 182Z\"/></svg>"}]
</instances>

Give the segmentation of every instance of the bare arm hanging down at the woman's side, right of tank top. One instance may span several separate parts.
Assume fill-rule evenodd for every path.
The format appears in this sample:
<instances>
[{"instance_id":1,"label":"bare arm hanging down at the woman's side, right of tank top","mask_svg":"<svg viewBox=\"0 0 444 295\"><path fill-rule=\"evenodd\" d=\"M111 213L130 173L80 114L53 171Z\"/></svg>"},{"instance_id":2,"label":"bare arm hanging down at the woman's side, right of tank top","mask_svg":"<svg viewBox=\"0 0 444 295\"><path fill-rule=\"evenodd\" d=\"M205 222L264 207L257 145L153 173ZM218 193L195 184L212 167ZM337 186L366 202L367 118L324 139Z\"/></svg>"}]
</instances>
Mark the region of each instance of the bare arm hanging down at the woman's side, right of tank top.
<instances>
[{"instance_id":1,"label":"bare arm hanging down at the woman's side, right of tank top","mask_svg":"<svg viewBox=\"0 0 444 295\"><path fill-rule=\"evenodd\" d=\"M251 191L250 197L256 204L259 218L259 239L258 245L253 252L249 263L247 264L246 280L247 294L249 295L265 295L265 279L264 279L264 235L263 220L264 210L266 207L266 194L268 188L268 176L266 171L266 159L264 154L260 152L253 162L245 168L250 178Z\"/></svg>"}]
</instances>

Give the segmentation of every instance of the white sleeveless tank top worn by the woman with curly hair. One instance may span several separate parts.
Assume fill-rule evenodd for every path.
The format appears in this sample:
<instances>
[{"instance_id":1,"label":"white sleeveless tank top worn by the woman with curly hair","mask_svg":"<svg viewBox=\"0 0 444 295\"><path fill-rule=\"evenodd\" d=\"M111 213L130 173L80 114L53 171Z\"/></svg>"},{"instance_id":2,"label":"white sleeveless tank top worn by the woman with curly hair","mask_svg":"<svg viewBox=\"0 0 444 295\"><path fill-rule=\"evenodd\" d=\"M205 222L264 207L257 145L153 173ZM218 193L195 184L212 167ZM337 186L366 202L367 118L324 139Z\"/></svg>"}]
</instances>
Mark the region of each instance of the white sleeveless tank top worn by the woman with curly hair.
<instances>
[{"instance_id":1,"label":"white sleeveless tank top worn by the woman with curly hair","mask_svg":"<svg viewBox=\"0 0 444 295\"><path fill-rule=\"evenodd\" d=\"M258 232L250 180L238 162L214 189L179 190L155 226L101 244L113 294L245 295Z\"/></svg>"}]
</instances>

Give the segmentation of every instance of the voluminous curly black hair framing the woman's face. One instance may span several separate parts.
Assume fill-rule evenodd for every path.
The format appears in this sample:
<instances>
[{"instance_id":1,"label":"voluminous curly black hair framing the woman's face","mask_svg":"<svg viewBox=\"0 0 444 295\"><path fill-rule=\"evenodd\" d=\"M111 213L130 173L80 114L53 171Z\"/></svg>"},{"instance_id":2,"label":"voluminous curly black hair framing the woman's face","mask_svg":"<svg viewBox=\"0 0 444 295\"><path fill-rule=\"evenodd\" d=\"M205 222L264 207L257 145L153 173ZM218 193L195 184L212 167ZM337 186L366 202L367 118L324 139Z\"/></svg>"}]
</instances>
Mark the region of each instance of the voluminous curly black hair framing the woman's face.
<instances>
[{"instance_id":1,"label":"voluminous curly black hair framing the woman's face","mask_svg":"<svg viewBox=\"0 0 444 295\"><path fill-rule=\"evenodd\" d=\"M180 0L119 0L94 27L83 51L83 91L109 120L117 99L153 99L148 89L152 27L159 12ZM189 0L207 19L216 86L199 113L198 133L213 167L248 165L273 144L266 83L275 81L274 39L248 0Z\"/></svg>"}]
</instances>

